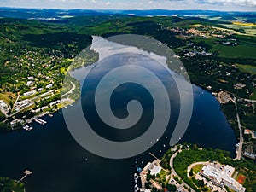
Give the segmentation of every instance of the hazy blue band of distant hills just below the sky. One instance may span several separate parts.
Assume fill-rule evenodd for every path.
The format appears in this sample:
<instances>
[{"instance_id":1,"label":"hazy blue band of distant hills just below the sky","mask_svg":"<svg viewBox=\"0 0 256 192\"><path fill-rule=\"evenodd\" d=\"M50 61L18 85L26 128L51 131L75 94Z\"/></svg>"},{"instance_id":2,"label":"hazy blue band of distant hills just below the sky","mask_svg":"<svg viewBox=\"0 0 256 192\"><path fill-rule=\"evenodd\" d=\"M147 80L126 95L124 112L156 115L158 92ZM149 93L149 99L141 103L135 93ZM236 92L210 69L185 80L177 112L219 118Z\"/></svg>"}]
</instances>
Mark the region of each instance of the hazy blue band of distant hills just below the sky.
<instances>
[{"instance_id":1,"label":"hazy blue band of distant hills just below the sky","mask_svg":"<svg viewBox=\"0 0 256 192\"><path fill-rule=\"evenodd\" d=\"M34 20L61 20L82 15L178 16L201 17L214 20L239 20L256 22L256 12L225 12L212 10L114 10L114 9L19 9L0 8L0 17Z\"/></svg>"}]
</instances>

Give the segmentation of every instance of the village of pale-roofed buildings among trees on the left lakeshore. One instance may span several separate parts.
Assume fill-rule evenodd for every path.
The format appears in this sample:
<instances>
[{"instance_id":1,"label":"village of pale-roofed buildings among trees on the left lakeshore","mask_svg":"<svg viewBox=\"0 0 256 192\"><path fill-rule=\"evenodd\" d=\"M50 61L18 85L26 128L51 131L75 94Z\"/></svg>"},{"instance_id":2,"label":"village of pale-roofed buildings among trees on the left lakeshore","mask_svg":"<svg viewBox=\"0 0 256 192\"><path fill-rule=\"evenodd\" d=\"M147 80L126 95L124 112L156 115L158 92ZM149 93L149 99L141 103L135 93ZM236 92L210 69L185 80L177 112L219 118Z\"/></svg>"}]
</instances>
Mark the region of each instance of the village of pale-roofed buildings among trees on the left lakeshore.
<instances>
[{"instance_id":1,"label":"village of pale-roofed buildings among trees on the left lakeshore","mask_svg":"<svg viewBox=\"0 0 256 192\"><path fill-rule=\"evenodd\" d=\"M45 56L45 55L44 55ZM14 57L14 63L19 67L25 64L30 67L29 73L22 73L24 77L11 77L15 80L15 84L7 84L3 86L3 90L7 95L9 91L15 89L16 94L9 94L0 100L0 111L3 113L3 122L9 122L11 129L32 130L29 125L32 120L44 125L46 121L39 119L45 114L54 113L60 108L72 105L78 96L74 96L74 90L79 89L79 83L70 78L69 84L62 86L60 79L61 73L66 73L64 67L57 68L63 58L60 56L51 56L44 58L43 55L28 51L19 58ZM49 59L49 60L48 60ZM39 61L40 60L40 61ZM39 62L38 62L39 61ZM69 61L70 62L70 61ZM6 65L14 65L14 63L6 62ZM39 70L39 71L38 71ZM56 74L56 75L55 75ZM61 97L61 93L66 93L66 97ZM63 96L64 94L62 94Z\"/></svg>"}]
</instances>

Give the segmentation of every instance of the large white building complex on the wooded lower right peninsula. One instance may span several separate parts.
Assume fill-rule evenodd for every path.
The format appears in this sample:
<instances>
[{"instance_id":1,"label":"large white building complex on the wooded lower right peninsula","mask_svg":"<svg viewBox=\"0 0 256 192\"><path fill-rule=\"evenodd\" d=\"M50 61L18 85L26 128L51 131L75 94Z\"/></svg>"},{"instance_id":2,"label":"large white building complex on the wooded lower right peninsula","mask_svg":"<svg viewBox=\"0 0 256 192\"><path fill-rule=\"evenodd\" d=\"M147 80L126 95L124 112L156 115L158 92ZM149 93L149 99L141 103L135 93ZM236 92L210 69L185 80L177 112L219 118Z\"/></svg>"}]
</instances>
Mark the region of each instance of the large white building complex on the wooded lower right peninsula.
<instances>
[{"instance_id":1,"label":"large white building complex on the wooded lower right peninsula","mask_svg":"<svg viewBox=\"0 0 256 192\"><path fill-rule=\"evenodd\" d=\"M236 192L244 192L246 189L242 187L231 176L235 172L235 168L229 165L226 166L213 166L207 165L203 166L200 174L202 176L208 177L212 180L212 183L217 184L218 186L227 186L230 189L235 190Z\"/></svg>"}]
</instances>

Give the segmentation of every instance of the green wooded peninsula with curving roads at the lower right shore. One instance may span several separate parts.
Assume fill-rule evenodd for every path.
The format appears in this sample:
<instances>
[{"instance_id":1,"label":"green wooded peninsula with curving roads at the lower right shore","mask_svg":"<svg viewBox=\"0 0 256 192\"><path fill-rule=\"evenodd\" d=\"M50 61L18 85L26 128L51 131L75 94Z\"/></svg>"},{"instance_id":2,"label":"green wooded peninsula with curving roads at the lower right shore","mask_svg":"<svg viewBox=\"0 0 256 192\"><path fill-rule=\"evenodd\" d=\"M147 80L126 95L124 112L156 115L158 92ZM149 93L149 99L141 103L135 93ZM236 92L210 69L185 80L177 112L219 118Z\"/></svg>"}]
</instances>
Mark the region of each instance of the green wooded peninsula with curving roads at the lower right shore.
<instances>
[{"instance_id":1,"label":"green wooded peninsula with curving roads at the lower right shore","mask_svg":"<svg viewBox=\"0 0 256 192\"><path fill-rule=\"evenodd\" d=\"M232 160L228 153L219 150L219 149L205 149L199 148L195 144L185 144L179 145L177 147L169 149L166 154L161 158L161 162L170 162L168 167L169 174L165 178L160 177L160 172L152 172L148 169L148 166L145 166L141 174L143 186L145 190L147 187L149 189L154 189L155 185L151 180L158 183L162 188L165 189L167 184L171 184L172 188L176 188L180 191L185 192L197 192L201 191L230 191L227 186L219 184L218 182L209 182L211 179L204 176L203 168L209 166L208 169L213 166L216 167L216 172L225 172L223 174L228 174L230 177L229 181L232 181L232 184L228 185L230 189L235 189L235 191L244 191L242 185L247 189L248 192L255 191L256 183L256 166L253 162L248 160ZM166 168L165 163L159 165ZM149 165L152 165L150 163ZM148 164L147 164L148 165ZM158 166L159 166L158 165ZM227 167L227 168L225 168ZM160 170L160 169L159 169ZM250 179L249 179L250 177ZM148 179L145 179L148 178ZM150 178L150 179L149 179ZM167 179L168 178L168 179ZM241 180L241 178L243 178ZM171 188L169 186L169 188ZM156 190L158 191L158 190ZM176 190L169 190L176 191Z\"/></svg>"}]
</instances>

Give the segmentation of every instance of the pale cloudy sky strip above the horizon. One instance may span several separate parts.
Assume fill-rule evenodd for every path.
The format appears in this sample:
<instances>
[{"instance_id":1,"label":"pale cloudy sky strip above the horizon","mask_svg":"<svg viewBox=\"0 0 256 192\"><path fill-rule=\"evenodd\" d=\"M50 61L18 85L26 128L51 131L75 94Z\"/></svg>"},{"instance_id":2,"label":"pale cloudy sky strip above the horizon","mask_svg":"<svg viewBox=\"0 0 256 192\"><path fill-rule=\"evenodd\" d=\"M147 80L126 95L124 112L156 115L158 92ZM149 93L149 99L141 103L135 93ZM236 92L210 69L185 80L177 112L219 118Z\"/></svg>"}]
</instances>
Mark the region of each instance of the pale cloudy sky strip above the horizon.
<instances>
[{"instance_id":1,"label":"pale cloudy sky strip above the horizon","mask_svg":"<svg viewBox=\"0 0 256 192\"><path fill-rule=\"evenodd\" d=\"M256 11L256 0L0 0L0 7L48 9L211 9Z\"/></svg>"}]
</instances>

